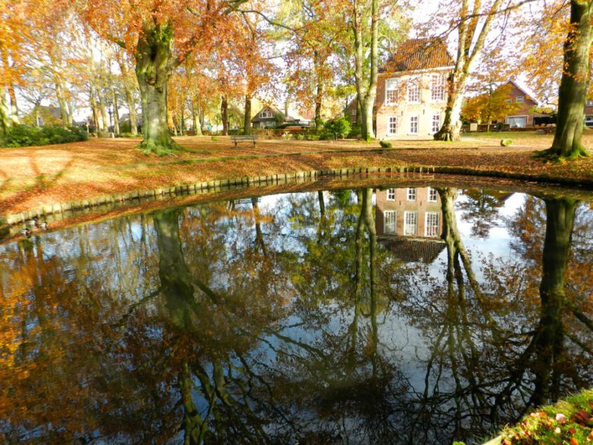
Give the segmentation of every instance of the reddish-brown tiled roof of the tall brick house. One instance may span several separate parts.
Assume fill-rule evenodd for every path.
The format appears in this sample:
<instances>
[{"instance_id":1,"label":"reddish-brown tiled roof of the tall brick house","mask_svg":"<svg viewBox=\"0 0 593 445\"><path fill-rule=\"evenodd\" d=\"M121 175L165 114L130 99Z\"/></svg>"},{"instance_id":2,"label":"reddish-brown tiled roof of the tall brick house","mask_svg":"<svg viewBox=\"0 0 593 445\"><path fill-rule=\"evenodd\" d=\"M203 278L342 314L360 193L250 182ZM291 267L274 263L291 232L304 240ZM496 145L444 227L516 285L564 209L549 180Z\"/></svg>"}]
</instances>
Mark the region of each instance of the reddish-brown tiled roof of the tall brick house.
<instances>
[{"instance_id":1,"label":"reddish-brown tiled roof of the tall brick house","mask_svg":"<svg viewBox=\"0 0 593 445\"><path fill-rule=\"evenodd\" d=\"M455 65L444 41L432 39L408 39L389 58L381 72L414 71Z\"/></svg>"}]
</instances>

